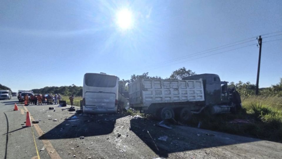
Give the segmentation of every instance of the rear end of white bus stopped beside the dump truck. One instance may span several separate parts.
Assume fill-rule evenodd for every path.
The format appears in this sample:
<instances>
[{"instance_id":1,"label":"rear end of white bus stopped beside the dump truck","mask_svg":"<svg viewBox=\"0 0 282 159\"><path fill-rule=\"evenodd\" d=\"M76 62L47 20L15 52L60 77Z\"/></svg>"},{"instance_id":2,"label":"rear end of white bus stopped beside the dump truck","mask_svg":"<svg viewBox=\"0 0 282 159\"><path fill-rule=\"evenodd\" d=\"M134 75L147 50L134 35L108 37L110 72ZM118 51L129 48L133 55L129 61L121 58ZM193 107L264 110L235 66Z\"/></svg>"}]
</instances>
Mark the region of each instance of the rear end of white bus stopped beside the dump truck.
<instances>
[{"instance_id":1,"label":"rear end of white bus stopped beside the dump truck","mask_svg":"<svg viewBox=\"0 0 282 159\"><path fill-rule=\"evenodd\" d=\"M83 78L83 113L117 113L117 76L105 73L86 73Z\"/></svg>"}]
</instances>

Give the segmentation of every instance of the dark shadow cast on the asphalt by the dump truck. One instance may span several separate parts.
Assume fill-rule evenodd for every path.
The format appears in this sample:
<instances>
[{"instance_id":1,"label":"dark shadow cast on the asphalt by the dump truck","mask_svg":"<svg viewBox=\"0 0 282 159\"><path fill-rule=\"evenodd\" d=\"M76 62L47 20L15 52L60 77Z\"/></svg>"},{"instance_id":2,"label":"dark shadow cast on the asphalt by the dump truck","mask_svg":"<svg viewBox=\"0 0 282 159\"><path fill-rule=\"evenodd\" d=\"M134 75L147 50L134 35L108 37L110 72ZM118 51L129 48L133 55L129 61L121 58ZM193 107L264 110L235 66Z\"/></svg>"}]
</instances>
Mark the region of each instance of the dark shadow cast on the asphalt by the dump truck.
<instances>
[{"instance_id":1,"label":"dark shadow cast on the asphalt by the dump truck","mask_svg":"<svg viewBox=\"0 0 282 159\"><path fill-rule=\"evenodd\" d=\"M164 158L169 153L260 141L188 126L171 125L172 129L167 129L156 126L156 123L137 118L130 120L130 127L151 150Z\"/></svg>"}]
</instances>

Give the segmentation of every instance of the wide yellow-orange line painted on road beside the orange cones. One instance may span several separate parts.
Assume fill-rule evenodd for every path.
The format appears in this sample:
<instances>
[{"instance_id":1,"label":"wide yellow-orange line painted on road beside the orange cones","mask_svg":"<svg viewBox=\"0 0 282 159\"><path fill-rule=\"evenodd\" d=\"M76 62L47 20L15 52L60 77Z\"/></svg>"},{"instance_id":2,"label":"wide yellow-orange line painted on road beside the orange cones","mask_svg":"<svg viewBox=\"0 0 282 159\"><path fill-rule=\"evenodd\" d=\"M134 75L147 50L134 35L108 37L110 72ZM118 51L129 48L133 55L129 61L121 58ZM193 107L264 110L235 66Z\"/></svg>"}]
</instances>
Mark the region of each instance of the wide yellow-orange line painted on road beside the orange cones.
<instances>
[{"instance_id":1,"label":"wide yellow-orange line painted on road beside the orange cones","mask_svg":"<svg viewBox=\"0 0 282 159\"><path fill-rule=\"evenodd\" d=\"M25 106L24 106L24 109L26 111L28 111ZM30 118L31 118L31 120L34 120L34 118L32 116ZM38 133L39 136L42 136L44 134L38 124L34 124L33 126L34 126L34 128L35 128L35 130L36 130L36 132ZM49 140L42 139L41 141L43 142L44 145L46 145L46 150L48 151L48 154L50 155L51 159L61 159L60 155L53 148L53 146L52 146L52 144Z\"/></svg>"}]
</instances>

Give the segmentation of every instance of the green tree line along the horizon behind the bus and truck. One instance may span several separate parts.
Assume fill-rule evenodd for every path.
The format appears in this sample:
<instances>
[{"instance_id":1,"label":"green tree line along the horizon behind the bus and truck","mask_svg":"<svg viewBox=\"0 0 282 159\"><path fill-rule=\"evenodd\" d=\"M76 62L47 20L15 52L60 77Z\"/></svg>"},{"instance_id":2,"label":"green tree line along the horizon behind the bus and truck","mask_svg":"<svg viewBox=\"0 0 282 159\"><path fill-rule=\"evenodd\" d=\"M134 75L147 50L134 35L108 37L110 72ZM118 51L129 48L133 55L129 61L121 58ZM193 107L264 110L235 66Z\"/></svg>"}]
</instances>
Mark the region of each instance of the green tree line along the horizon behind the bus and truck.
<instances>
[{"instance_id":1,"label":"green tree line along the horizon behind the bus and truck","mask_svg":"<svg viewBox=\"0 0 282 159\"><path fill-rule=\"evenodd\" d=\"M195 75L196 72L193 72L190 69L186 69L185 67L179 68L172 72L172 74L165 78L170 80L180 80L183 77L192 76ZM149 72L145 72L140 75L133 74L130 79L128 80L120 80L119 81L119 92L128 91L128 84L134 82L137 79L162 79L160 76L149 76ZM2 86L2 85L0 85ZM4 86L5 87L5 86ZM250 82L242 82L239 81L238 83L230 82L229 87L235 87L236 90L240 93L241 97L250 97L252 95L255 95L256 85L251 84ZM5 87L10 90L10 88ZM2 89L2 87L1 87ZM82 96L82 87L71 85L71 86L61 86L61 87L44 87L41 89L33 89L32 90L35 93L40 94L61 94L61 95L75 95L75 96ZM282 78L280 79L280 82L276 85L272 85L271 87L267 88L260 88L259 89L259 95L277 95L282 96Z\"/></svg>"}]
</instances>

